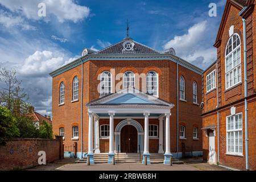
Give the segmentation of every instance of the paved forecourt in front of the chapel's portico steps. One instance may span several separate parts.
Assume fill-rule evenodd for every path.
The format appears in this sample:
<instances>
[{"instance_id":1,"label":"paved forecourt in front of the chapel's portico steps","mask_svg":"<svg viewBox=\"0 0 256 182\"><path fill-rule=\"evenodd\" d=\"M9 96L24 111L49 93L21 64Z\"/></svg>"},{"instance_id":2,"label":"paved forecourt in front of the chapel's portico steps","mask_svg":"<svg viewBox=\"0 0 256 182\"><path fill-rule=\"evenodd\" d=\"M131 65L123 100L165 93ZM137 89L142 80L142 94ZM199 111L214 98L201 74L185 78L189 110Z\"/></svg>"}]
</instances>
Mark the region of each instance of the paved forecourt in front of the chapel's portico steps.
<instances>
[{"instance_id":1,"label":"paved forecourt in front of the chapel's portico steps","mask_svg":"<svg viewBox=\"0 0 256 182\"><path fill-rule=\"evenodd\" d=\"M174 164L173 166L165 164L149 164L145 166L141 163L119 163L119 164L91 164L75 163L76 159L57 160L54 163L37 166L26 169L29 171L226 171L228 169L209 165L204 163L202 159L184 160L184 164Z\"/></svg>"}]
</instances>

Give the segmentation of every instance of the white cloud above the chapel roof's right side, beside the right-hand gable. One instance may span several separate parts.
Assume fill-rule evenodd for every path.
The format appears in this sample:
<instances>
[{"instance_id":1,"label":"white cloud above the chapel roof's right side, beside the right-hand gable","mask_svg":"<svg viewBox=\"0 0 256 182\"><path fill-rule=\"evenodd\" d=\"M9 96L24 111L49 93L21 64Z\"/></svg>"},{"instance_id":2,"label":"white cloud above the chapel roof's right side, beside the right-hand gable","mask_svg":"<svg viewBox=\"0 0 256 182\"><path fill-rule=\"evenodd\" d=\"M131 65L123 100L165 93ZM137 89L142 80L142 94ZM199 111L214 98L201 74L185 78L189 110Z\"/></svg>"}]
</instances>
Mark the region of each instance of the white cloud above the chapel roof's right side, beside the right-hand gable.
<instances>
[{"instance_id":1,"label":"white cloud above the chapel roof's right side, beside the right-hand gable","mask_svg":"<svg viewBox=\"0 0 256 182\"><path fill-rule=\"evenodd\" d=\"M216 59L216 49L212 46L205 46L208 45L207 40L205 40L208 31L210 31L210 27L208 27L206 20L196 23L188 28L188 32L184 35L174 36L173 39L164 44L163 48L173 47L177 56L205 68L205 65Z\"/></svg>"}]
</instances>

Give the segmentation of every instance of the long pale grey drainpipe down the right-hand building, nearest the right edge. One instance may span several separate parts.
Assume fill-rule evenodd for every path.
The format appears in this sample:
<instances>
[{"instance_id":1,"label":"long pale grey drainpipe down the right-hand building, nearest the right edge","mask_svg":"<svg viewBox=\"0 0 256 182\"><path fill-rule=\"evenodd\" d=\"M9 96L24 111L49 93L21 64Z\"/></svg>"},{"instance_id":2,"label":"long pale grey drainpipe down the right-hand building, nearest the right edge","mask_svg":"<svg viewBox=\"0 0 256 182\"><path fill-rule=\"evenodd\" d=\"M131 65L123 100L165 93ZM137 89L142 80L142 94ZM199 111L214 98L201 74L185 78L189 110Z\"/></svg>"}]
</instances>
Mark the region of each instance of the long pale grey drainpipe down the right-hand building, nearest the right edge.
<instances>
[{"instance_id":1,"label":"long pale grey drainpipe down the right-hand building, nearest the right edge","mask_svg":"<svg viewBox=\"0 0 256 182\"><path fill-rule=\"evenodd\" d=\"M241 16L247 6L238 14ZM248 139L248 104L247 104L247 47L246 47L246 20L242 17L243 22L243 72L244 72L244 82L245 82L245 166L246 170L249 170L249 139Z\"/></svg>"}]
</instances>

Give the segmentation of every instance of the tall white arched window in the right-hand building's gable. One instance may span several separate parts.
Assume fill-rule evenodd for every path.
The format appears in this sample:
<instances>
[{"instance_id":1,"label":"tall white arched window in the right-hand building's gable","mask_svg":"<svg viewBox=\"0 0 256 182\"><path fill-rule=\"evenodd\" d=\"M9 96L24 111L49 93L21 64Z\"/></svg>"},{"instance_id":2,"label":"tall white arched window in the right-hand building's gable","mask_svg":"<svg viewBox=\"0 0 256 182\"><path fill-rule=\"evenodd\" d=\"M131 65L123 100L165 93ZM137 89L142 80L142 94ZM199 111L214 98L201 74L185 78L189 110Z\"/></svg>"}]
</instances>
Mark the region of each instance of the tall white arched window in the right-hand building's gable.
<instances>
[{"instance_id":1,"label":"tall white arched window in the right-hand building's gable","mask_svg":"<svg viewBox=\"0 0 256 182\"><path fill-rule=\"evenodd\" d=\"M238 34L230 37L225 56L226 89L241 82L241 43Z\"/></svg>"}]
</instances>

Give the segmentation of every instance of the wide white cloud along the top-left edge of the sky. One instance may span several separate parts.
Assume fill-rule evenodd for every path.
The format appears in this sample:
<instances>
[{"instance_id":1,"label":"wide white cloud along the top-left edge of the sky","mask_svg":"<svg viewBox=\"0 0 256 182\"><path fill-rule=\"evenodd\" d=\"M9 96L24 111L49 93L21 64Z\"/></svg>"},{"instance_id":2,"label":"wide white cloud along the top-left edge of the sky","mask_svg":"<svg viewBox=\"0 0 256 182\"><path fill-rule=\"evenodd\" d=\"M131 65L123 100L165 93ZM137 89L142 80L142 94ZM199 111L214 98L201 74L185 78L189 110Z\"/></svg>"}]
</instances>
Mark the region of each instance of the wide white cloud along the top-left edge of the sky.
<instances>
[{"instance_id":1,"label":"wide white cloud along the top-left edge of the sky","mask_svg":"<svg viewBox=\"0 0 256 182\"><path fill-rule=\"evenodd\" d=\"M32 20L39 20L42 18L38 16L39 3L46 4L45 20L49 20L49 16L54 15L61 23L66 20L71 20L76 23L79 20L88 18L90 13L88 7L77 5L74 0L0 0L0 4L13 13L22 14L26 16L26 18Z\"/></svg>"}]
</instances>

